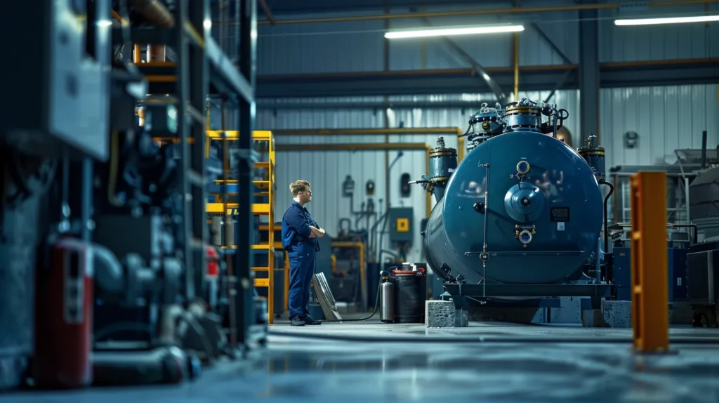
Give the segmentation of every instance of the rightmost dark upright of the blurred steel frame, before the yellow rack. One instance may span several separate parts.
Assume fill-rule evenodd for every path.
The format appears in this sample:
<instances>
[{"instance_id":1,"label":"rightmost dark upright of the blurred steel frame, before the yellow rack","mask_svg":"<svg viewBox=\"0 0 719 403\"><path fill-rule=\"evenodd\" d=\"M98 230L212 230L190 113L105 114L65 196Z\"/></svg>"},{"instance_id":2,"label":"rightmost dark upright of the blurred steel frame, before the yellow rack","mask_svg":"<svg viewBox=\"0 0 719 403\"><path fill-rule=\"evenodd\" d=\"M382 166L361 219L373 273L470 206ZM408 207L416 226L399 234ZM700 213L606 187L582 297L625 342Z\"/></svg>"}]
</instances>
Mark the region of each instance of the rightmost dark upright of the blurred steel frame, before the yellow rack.
<instances>
[{"instance_id":1,"label":"rightmost dark upright of the blurred steel frame, before the yellow rack","mask_svg":"<svg viewBox=\"0 0 719 403\"><path fill-rule=\"evenodd\" d=\"M255 0L239 1L239 72L247 80L251 88L255 88L255 50L257 48L257 2ZM252 225L252 131L255 130L254 98L239 98L239 141L237 147L242 155L238 167L237 203L237 253L234 255L234 271L237 283L237 340L245 341L249 326L254 323L254 288L252 287L252 267L255 258L251 246L256 244L253 239ZM270 252L271 253L271 252ZM271 269L272 270L272 269ZM273 272L270 272L273 275Z\"/></svg>"}]
</instances>

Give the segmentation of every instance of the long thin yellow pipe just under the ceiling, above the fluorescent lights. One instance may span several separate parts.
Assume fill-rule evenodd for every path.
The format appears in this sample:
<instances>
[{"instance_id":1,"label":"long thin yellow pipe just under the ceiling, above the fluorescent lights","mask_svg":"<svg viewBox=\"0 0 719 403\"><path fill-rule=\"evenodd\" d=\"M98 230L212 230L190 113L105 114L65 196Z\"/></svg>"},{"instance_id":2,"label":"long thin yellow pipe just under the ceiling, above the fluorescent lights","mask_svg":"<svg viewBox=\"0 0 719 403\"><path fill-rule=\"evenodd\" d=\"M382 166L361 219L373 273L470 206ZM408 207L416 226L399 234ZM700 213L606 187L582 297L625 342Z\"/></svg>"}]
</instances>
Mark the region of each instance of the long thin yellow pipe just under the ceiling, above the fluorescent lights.
<instances>
[{"instance_id":1,"label":"long thin yellow pipe just under the ceiling, above the fluorescent lights","mask_svg":"<svg viewBox=\"0 0 719 403\"><path fill-rule=\"evenodd\" d=\"M658 6L690 6L692 4L710 4L719 0L675 0L675 1L649 1L650 7ZM258 25L290 25L290 24L319 24L322 22L353 22L353 21L376 21L391 19L420 19L435 17L464 17L475 15L497 15L497 14L526 14L539 12L560 12L560 11L583 11L583 10L610 10L618 9L620 4L577 4L574 6L541 6L541 7L518 7L507 9L479 9L479 10L463 10L463 11L432 11L421 13L403 13L403 14L375 14L353 17L328 17L328 18L306 18L306 19L269 19L258 21ZM213 24L216 24L213 22ZM218 23L219 24L219 23ZM226 24L237 24L237 22L229 22Z\"/></svg>"}]
</instances>

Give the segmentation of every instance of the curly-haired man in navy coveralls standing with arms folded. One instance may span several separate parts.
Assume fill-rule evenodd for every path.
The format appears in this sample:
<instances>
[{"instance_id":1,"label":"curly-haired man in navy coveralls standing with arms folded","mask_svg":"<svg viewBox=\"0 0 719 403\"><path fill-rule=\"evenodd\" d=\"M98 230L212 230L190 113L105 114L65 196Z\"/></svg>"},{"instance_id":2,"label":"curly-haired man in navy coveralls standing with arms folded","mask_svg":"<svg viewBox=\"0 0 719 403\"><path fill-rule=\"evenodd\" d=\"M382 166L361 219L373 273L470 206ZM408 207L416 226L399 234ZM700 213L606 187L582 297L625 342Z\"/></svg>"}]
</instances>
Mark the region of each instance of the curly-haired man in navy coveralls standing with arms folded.
<instances>
[{"instance_id":1,"label":"curly-haired man in navy coveralls standing with arms folded","mask_svg":"<svg viewBox=\"0 0 719 403\"><path fill-rule=\"evenodd\" d=\"M296 180L290 185L294 201L282 218L282 247L290 259L290 323L293 326L320 325L310 316L310 285L315 269L317 238L324 236L305 205L312 200L310 182Z\"/></svg>"}]
</instances>

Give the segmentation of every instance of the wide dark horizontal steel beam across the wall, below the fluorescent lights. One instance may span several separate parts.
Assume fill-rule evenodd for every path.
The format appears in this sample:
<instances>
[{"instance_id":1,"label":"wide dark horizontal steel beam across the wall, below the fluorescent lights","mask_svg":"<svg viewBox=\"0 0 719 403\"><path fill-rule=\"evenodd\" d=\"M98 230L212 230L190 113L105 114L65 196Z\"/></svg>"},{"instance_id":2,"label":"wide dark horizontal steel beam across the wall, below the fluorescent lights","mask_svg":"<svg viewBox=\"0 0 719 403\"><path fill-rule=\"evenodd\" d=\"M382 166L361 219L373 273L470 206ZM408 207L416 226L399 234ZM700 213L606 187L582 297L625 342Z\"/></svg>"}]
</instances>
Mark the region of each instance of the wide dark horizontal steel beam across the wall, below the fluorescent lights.
<instances>
[{"instance_id":1,"label":"wide dark horizontal steel beam across the wall, below the fluorescent lights","mask_svg":"<svg viewBox=\"0 0 719 403\"><path fill-rule=\"evenodd\" d=\"M578 89L577 65L526 66L520 70L522 91ZM719 58L602 63L600 88L719 83ZM512 68L487 68L500 87L511 88ZM569 77L564 80L569 73ZM560 88L557 83L562 82ZM469 68L367 73L275 75L257 77L257 98L398 96L490 93Z\"/></svg>"}]
</instances>

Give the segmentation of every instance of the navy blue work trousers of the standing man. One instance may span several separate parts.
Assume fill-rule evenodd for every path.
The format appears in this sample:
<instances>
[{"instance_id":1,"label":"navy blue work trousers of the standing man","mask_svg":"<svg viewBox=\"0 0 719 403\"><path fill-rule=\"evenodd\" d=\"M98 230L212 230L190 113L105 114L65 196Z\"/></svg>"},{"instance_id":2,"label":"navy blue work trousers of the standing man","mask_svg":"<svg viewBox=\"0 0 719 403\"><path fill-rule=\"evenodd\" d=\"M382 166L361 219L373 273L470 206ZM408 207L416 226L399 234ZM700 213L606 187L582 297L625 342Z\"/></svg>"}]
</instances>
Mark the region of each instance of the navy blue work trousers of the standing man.
<instances>
[{"instance_id":1,"label":"navy blue work trousers of the standing man","mask_svg":"<svg viewBox=\"0 0 719 403\"><path fill-rule=\"evenodd\" d=\"M314 242L301 242L293 245L288 251L290 259L290 319L299 316L304 318L310 314L310 286L315 270Z\"/></svg>"}]
</instances>

